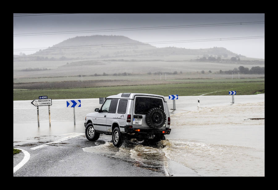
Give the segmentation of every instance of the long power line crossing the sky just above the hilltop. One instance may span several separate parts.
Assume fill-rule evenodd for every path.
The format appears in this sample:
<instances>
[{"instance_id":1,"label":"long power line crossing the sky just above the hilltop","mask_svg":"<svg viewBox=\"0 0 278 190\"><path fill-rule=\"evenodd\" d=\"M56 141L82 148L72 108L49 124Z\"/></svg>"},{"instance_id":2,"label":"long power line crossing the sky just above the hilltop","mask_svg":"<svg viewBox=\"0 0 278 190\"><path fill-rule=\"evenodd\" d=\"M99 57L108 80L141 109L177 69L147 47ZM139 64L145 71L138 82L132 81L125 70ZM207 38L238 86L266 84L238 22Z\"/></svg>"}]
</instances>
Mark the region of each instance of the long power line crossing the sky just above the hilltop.
<instances>
[{"instance_id":1,"label":"long power line crossing the sky just above the hilltop","mask_svg":"<svg viewBox=\"0 0 278 190\"><path fill-rule=\"evenodd\" d=\"M56 34L93 33L93 32L120 32L120 31L134 31L134 30L171 29L171 28L234 26L234 25L246 25L246 24L264 24L264 21L241 22L241 23L219 23L219 24L194 24L194 25L178 25L178 26L158 26L158 27L141 27L141 28L117 28L117 29L101 29L101 30L79 30L79 31L63 31L63 32L20 33L20 34L14 34L14 37L56 35Z\"/></svg>"}]
</instances>

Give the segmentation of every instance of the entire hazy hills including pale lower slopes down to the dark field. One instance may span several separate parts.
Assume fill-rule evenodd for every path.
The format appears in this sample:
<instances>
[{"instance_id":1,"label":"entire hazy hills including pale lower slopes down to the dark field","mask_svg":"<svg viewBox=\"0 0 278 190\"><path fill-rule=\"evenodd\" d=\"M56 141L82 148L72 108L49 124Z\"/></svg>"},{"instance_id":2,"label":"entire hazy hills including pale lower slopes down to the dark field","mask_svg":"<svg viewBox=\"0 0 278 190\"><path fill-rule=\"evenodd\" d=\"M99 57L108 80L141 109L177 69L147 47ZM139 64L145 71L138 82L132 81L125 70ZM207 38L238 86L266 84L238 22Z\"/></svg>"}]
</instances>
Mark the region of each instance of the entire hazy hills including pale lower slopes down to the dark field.
<instances>
[{"instance_id":1,"label":"entire hazy hills including pale lower slopes down to the dark field","mask_svg":"<svg viewBox=\"0 0 278 190\"><path fill-rule=\"evenodd\" d=\"M237 57L231 61L231 57ZM239 61L240 58L240 61ZM264 67L223 47L185 49L157 48L124 36L78 36L35 54L14 56L16 78L78 75L119 75L160 72L201 72L233 70L239 66Z\"/></svg>"}]
</instances>

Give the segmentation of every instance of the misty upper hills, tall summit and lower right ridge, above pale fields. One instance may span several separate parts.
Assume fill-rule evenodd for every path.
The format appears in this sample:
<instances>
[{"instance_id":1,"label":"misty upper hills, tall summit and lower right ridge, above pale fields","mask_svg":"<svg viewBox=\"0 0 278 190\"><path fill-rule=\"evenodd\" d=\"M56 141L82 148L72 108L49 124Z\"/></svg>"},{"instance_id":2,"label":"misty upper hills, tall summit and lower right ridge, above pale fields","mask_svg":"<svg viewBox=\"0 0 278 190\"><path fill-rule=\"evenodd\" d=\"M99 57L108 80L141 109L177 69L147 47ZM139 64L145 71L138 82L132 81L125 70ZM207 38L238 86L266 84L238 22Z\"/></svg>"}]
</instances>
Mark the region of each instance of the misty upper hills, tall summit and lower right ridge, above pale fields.
<instances>
[{"instance_id":1,"label":"misty upper hills, tall summit and lower right ridge, above pale fields","mask_svg":"<svg viewBox=\"0 0 278 190\"><path fill-rule=\"evenodd\" d=\"M237 55L223 47L185 49L176 47L156 48L124 36L78 36L69 38L35 54L14 56L14 61L89 60L102 58L162 58L171 55L196 55L200 57L231 57Z\"/></svg>"}]
</instances>

